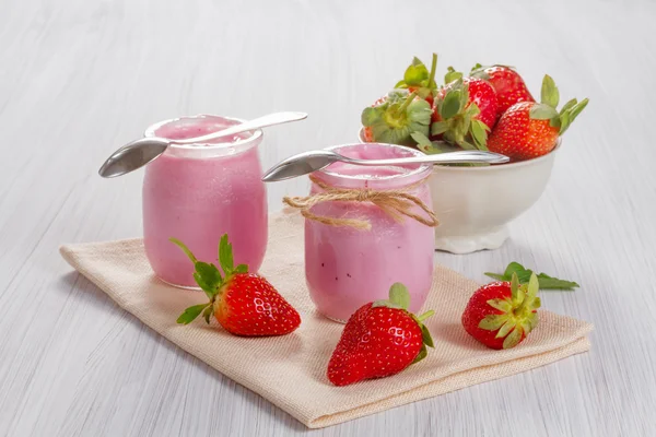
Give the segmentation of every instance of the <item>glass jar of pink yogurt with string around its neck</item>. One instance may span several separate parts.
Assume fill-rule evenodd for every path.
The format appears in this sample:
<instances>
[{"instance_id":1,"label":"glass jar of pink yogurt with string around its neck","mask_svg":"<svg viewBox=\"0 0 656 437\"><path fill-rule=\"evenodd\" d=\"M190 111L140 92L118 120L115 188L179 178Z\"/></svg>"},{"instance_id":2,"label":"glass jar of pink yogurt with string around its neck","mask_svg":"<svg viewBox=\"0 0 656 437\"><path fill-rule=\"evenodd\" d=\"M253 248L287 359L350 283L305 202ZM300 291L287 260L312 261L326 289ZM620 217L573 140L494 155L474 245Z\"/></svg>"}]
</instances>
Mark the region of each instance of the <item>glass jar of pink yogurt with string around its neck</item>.
<instances>
[{"instance_id":1,"label":"glass jar of pink yogurt with string around its neck","mask_svg":"<svg viewBox=\"0 0 656 437\"><path fill-rule=\"evenodd\" d=\"M360 160L422 155L393 144L366 143L329 147ZM426 184L432 166L368 167L336 163L313 175L330 189L407 190L430 205ZM311 196L324 192L313 184ZM425 215L419 206L412 212ZM371 229L333 226L305 220L305 277L312 300L324 316L345 322L362 305L386 299L395 282L410 293L410 310L425 303L433 281L434 227L413 218L402 223L371 202L327 201L313 206L324 217L358 218Z\"/></svg>"}]
</instances>

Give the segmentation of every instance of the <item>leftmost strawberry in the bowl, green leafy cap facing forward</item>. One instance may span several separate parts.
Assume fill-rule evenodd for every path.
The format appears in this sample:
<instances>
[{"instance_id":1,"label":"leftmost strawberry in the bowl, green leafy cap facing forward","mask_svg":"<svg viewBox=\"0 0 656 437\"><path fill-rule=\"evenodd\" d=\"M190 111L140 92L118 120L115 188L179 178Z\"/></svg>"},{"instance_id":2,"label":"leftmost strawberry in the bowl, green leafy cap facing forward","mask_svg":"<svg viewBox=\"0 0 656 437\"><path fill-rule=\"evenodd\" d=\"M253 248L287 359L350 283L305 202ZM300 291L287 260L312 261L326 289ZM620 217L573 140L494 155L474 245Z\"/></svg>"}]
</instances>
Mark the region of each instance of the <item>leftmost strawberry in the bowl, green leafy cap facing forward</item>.
<instances>
[{"instance_id":1,"label":"leftmost strawberry in the bowl, green leafy cap facing forward","mask_svg":"<svg viewBox=\"0 0 656 437\"><path fill-rule=\"evenodd\" d=\"M380 105L364 108L361 118L367 142L414 145L413 132L429 134L431 105L417 93L398 88Z\"/></svg>"}]
</instances>

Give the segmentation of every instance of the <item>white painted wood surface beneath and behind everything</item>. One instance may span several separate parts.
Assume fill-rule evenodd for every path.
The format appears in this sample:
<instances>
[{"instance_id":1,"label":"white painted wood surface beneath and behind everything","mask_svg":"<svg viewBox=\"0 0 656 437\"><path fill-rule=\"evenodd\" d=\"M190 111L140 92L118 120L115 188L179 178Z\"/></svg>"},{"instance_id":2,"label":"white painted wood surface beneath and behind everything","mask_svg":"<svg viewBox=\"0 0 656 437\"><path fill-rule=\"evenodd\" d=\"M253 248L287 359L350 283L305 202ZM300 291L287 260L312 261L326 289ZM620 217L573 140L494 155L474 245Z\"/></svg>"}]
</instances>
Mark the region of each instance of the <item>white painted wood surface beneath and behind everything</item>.
<instances>
[{"instance_id":1,"label":"white painted wood surface beneath and behind everything","mask_svg":"<svg viewBox=\"0 0 656 437\"><path fill-rule=\"evenodd\" d=\"M656 429L656 5L646 1L0 0L0 435L640 436ZM141 234L142 173L96 175L151 122L305 110L265 166L355 140L413 55L549 72L590 105L499 250L436 259L484 281L517 260L575 279L543 306L591 352L306 432L71 272L62 243ZM271 210L303 180L269 187ZM522 187L518 187L522 189Z\"/></svg>"}]
</instances>

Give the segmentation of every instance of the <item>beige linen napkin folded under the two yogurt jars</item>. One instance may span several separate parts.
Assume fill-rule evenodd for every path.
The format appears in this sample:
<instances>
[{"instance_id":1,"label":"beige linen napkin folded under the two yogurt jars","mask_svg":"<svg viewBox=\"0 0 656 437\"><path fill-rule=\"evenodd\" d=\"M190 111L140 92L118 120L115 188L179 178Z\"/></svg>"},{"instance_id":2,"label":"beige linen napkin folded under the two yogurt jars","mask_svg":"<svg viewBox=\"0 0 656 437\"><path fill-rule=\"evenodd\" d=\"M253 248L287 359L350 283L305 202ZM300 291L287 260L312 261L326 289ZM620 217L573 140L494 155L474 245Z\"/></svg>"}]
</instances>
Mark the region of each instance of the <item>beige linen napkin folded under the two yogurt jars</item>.
<instances>
[{"instance_id":1,"label":"beige linen napkin folded under the two yogurt jars","mask_svg":"<svg viewBox=\"0 0 656 437\"><path fill-rule=\"evenodd\" d=\"M593 326L547 310L519 346L492 351L460 326L460 315L478 284L436 265L425 308L436 314L426 326L435 349L423 362L389 378L333 387L326 366L342 324L319 316L305 286L303 223L284 213L270 220L263 274L301 312L301 327L289 335L244 339L199 318L189 326L176 318L202 303L201 292L159 281L141 239L66 245L63 258L127 311L150 328L244 387L261 394L311 428L362 417L475 383L532 369L589 349ZM215 321L213 321L215 323Z\"/></svg>"}]
</instances>

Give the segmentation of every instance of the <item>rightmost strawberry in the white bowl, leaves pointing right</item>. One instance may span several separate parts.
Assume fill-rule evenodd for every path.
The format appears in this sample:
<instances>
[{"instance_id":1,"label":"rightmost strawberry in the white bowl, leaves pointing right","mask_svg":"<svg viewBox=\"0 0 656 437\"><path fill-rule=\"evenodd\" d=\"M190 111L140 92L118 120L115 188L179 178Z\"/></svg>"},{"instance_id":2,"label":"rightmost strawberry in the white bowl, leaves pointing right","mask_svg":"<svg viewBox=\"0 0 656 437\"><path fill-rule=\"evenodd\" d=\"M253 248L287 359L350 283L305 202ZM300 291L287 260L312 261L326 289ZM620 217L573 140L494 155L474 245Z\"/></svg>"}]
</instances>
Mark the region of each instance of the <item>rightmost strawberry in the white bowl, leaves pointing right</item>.
<instances>
[{"instance_id":1,"label":"rightmost strawberry in the white bowl, leaves pointing right","mask_svg":"<svg viewBox=\"0 0 656 437\"><path fill-rule=\"evenodd\" d=\"M522 102L508 108L488 139L488 147L511 161L525 161L551 152L588 99L567 102L557 111L559 92L553 79L544 75L541 103Z\"/></svg>"}]
</instances>

